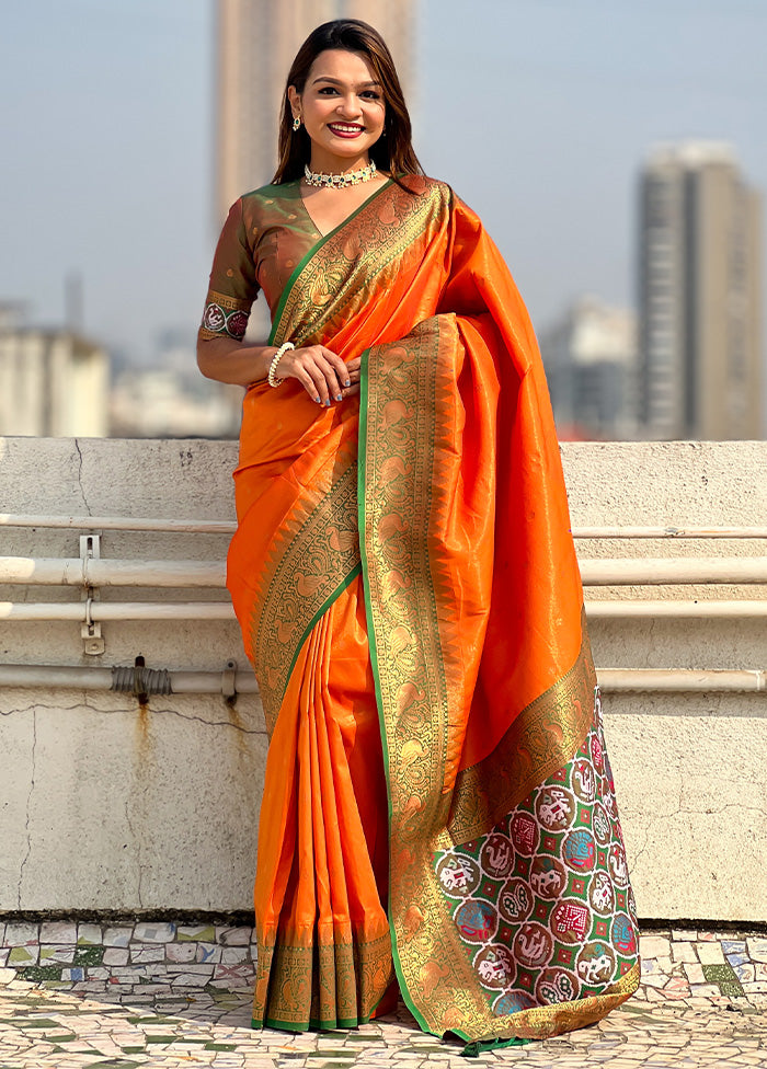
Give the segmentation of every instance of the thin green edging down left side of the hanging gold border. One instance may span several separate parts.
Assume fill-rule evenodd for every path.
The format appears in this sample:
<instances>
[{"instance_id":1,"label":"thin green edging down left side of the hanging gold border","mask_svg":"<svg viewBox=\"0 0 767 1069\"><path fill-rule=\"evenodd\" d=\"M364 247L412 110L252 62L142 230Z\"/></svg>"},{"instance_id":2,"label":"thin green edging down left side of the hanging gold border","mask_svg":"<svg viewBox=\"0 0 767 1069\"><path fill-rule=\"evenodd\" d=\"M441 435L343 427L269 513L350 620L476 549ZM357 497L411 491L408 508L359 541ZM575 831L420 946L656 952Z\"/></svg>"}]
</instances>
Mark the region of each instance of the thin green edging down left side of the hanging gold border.
<instances>
[{"instance_id":1,"label":"thin green edging down left side of the hanging gold border","mask_svg":"<svg viewBox=\"0 0 767 1069\"><path fill-rule=\"evenodd\" d=\"M369 586L369 572L368 572L368 558L367 558L367 545L365 539L365 467L367 462L367 432L368 432L368 402L369 402L369 383L368 383L368 358L370 355L370 349L367 348L360 356L359 365L359 445L358 445L358 458L357 458L357 513L358 513L358 526L359 526L359 560L362 564L362 575L363 575L363 595L365 598L365 613L367 617L367 641L370 651L370 667L373 669L373 680L376 689L376 705L378 709L378 724L381 736L381 749L384 751L384 766L386 772L386 797L387 797L387 808L389 817L389 873L391 873L391 819L392 819L392 804L391 804L391 785L389 778L389 746L386 737L386 725L384 723L384 699L381 696L381 683L379 678L378 669L378 648L376 645L376 632L373 624L373 606L370 605L370 586ZM388 910L387 910L388 912ZM389 916L389 935L391 939L391 961L394 966L394 973L397 974L397 981L400 987L400 995L404 1004L408 1007L410 1012L415 1018L419 1027L422 1032L428 1035L437 1035L438 1033L433 1032L428 1027L425 1018L416 1007L415 1002L410 996L408 986L404 981L404 974L402 972L402 964L400 962L399 951L397 946L397 932L394 931L394 924Z\"/></svg>"}]
</instances>

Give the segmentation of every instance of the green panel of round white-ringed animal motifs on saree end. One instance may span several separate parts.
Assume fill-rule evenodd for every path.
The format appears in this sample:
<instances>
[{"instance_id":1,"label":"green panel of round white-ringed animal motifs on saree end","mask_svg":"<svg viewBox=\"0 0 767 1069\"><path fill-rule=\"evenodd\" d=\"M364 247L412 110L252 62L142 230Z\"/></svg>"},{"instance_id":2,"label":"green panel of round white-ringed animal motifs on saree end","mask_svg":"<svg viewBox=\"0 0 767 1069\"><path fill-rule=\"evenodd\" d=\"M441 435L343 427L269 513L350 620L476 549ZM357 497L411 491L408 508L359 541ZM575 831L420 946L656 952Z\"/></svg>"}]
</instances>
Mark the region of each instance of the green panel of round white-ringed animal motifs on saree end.
<instances>
[{"instance_id":1,"label":"green panel of round white-ringed animal motifs on saree end","mask_svg":"<svg viewBox=\"0 0 767 1069\"><path fill-rule=\"evenodd\" d=\"M488 835L434 860L495 1014L604 995L636 965L637 915L598 689L573 759Z\"/></svg>"}]
</instances>

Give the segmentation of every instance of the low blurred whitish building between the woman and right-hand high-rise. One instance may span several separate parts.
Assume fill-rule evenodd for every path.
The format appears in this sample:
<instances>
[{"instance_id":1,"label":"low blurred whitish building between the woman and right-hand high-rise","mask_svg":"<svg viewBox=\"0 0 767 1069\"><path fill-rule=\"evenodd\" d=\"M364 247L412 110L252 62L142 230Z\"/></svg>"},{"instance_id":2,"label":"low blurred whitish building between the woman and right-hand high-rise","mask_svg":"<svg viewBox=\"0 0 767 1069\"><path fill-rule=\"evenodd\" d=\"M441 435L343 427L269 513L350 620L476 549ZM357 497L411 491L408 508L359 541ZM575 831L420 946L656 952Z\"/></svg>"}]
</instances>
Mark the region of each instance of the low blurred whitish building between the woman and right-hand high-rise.
<instances>
[{"instance_id":1,"label":"low blurred whitish building between the woman and right-hand high-rise","mask_svg":"<svg viewBox=\"0 0 767 1069\"><path fill-rule=\"evenodd\" d=\"M583 297L541 331L540 350L561 439L636 437L632 311Z\"/></svg>"}]
</instances>

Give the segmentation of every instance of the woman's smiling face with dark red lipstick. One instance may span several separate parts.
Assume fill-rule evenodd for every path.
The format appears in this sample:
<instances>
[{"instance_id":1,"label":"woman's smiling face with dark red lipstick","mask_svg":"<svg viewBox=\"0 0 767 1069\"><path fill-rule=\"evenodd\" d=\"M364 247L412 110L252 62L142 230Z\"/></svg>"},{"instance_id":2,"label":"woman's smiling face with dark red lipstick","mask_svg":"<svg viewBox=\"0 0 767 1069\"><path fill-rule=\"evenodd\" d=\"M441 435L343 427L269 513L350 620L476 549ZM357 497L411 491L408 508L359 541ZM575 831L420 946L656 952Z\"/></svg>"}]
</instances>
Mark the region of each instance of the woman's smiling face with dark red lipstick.
<instances>
[{"instance_id":1,"label":"woman's smiling face with dark red lipstick","mask_svg":"<svg viewBox=\"0 0 767 1069\"><path fill-rule=\"evenodd\" d=\"M320 53L299 95L288 88L294 116L311 138L312 171L348 171L369 162L369 150L384 133L382 87L356 51Z\"/></svg>"}]
</instances>

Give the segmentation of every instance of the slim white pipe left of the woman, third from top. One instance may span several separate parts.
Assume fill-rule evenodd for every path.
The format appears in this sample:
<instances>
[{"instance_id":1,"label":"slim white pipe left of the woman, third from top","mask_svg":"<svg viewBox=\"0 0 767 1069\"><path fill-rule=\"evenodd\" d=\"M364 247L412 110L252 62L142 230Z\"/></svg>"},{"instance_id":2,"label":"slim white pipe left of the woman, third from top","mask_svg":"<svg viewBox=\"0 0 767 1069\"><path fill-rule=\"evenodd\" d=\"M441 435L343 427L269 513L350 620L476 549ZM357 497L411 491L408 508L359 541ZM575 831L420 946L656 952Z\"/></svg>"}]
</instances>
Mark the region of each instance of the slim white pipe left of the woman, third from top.
<instances>
[{"instance_id":1,"label":"slim white pipe left of the woman, third from top","mask_svg":"<svg viewBox=\"0 0 767 1069\"><path fill-rule=\"evenodd\" d=\"M90 611L90 619L89 619ZM234 620L229 601L0 601L0 620Z\"/></svg>"}]
</instances>

